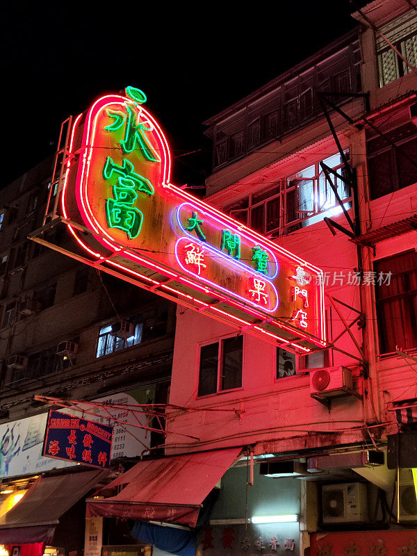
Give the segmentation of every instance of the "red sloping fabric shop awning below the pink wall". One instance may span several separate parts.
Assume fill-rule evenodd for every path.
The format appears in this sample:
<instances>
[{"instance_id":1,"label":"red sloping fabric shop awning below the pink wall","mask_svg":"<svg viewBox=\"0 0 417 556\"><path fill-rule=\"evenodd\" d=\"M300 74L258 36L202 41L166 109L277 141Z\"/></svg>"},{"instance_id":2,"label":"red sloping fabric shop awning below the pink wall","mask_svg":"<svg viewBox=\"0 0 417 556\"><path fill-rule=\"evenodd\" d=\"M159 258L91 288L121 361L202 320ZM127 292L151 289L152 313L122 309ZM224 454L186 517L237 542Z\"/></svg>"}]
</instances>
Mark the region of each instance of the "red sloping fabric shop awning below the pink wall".
<instances>
[{"instance_id":1,"label":"red sloping fabric shop awning below the pink wall","mask_svg":"<svg viewBox=\"0 0 417 556\"><path fill-rule=\"evenodd\" d=\"M87 516L181 523L195 527L202 502L241 448L147 459L106 489L124 486L117 496L87 500Z\"/></svg>"}]
</instances>

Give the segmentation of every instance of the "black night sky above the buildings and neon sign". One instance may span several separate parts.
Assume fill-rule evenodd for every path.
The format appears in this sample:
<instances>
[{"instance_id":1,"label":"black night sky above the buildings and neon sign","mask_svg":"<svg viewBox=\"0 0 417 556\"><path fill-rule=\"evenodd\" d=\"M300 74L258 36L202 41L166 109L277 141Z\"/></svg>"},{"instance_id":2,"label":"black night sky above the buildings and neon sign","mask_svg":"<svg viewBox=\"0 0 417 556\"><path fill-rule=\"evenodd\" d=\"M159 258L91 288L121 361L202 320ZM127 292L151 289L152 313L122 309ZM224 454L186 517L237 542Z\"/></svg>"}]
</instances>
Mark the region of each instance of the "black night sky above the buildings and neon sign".
<instances>
[{"instance_id":1,"label":"black night sky above the buildings and neon sign","mask_svg":"<svg viewBox=\"0 0 417 556\"><path fill-rule=\"evenodd\" d=\"M200 185L202 122L354 26L349 0L84 4L3 6L0 187L54 151L68 115L126 85L167 135L173 183Z\"/></svg>"}]
</instances>

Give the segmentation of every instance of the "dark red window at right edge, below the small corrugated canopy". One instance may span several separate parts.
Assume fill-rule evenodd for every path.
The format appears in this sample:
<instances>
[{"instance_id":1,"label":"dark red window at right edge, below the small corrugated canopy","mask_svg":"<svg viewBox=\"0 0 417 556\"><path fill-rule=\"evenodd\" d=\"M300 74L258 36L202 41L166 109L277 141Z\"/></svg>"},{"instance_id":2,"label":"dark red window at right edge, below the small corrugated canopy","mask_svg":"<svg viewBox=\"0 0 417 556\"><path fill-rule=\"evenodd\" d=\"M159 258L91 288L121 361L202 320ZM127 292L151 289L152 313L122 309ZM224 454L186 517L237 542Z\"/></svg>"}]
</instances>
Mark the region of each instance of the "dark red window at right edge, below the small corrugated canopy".
<instances>
[{"instance_id":1,"label":"dark red window at right edge, below the small corrugated canopy","mask_svg":"<svg viewBox=\"0 0 417 556\"><path fill-rule=\"evenodd\" d=\"M375 271L379 352L417 347L416 252L376 261Z\"/></svg>"}]
</instances>

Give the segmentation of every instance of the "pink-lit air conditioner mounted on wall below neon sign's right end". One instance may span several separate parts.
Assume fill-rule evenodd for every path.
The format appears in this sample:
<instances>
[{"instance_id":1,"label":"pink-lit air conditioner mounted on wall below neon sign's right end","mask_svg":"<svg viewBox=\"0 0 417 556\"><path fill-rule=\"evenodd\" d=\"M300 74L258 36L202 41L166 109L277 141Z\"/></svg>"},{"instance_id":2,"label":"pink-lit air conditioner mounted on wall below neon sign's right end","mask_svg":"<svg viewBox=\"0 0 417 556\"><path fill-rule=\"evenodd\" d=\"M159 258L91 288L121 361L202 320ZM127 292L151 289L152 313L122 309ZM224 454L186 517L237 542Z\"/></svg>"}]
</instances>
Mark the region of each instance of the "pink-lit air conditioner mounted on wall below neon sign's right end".
<instances>
[{"instance_id":1,"label":"pink-lit air conditioner mounted on wall below neon sign's right end","mask_svg":"<svg viewBox=\"0 0 417 556\"><path fill-rule=\"evenodd\" d=\"M318 401L356 394L352 373L345 367L325 367L310 373L310 395Z\"/></svg>"}]
</instances>

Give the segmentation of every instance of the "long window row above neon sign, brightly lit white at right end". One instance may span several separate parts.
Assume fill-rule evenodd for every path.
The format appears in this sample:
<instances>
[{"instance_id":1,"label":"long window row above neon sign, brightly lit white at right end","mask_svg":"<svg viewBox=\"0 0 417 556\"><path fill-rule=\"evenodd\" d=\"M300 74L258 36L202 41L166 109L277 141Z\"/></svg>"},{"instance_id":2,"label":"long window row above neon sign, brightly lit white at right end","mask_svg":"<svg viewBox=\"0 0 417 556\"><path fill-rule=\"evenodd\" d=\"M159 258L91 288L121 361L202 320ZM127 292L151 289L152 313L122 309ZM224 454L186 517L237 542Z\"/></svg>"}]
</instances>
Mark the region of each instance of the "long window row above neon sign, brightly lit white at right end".
<instances>
[{"instance_id":1,"label":"long window row above neon sign, brightly lit white at right end","mask_svg":"<svg viewBox=\"0 0 417 556\"><path fill-rule=\"evenodd\" d=\"M349 156L347 151L345 154ZM323 162L344 176L340 154L329 156ZM342 179L332 176L332 181L345 208L350 208L350 189ZM341 214L342 208L320 163L316 162L281 179L268 190L240 199L224 211L261 234L282 234L319 222L325 216Z\"/></svg>"}]
</instances>

